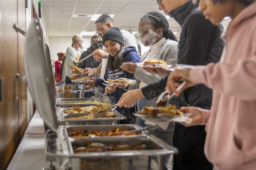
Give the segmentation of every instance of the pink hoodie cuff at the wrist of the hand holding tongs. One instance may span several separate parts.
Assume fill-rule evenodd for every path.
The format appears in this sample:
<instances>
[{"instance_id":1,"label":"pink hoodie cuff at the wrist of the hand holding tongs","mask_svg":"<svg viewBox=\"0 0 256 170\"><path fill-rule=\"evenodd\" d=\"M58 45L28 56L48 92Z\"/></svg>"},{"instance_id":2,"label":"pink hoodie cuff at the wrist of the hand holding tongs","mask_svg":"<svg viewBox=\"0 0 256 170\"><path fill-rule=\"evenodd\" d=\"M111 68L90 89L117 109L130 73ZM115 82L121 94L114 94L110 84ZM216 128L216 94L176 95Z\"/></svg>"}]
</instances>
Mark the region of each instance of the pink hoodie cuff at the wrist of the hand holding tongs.
<instances>
[{"instance_id":1,"label":"pink hoodie cuff at the wrist of the hand holding tongs","mask_svg":"<svg viewBox=\"0 0 256 170\"><path fill-rule=\"evenodd\" d=\"M196 84L202 84L203 71L204 71L204 66L196 66L193 69L190 69L188 73L189 80Z\"/></svg>"}]
</instances>

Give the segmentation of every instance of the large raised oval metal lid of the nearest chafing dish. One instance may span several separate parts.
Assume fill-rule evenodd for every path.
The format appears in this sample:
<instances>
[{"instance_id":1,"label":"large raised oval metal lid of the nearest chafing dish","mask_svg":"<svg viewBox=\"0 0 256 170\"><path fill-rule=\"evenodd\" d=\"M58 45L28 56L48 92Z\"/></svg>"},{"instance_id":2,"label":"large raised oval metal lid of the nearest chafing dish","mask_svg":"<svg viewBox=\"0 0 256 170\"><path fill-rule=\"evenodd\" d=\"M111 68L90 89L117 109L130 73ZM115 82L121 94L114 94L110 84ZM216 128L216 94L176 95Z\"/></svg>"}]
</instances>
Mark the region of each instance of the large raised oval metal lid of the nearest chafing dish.
<instances>
[{"instance_id":1,"label":"large raised oval metal lid of the nearest chafing dish","mask_svg":"<svg viewBox=\"0 0 256 170\"><path fill-rule=\"evenodd\" d=\"M52 130L58 128L56 90L49 48L42 42L38 21L32 20L25 40L25 73L31 96L39 114Z\"/></svg>"}]
</instances>

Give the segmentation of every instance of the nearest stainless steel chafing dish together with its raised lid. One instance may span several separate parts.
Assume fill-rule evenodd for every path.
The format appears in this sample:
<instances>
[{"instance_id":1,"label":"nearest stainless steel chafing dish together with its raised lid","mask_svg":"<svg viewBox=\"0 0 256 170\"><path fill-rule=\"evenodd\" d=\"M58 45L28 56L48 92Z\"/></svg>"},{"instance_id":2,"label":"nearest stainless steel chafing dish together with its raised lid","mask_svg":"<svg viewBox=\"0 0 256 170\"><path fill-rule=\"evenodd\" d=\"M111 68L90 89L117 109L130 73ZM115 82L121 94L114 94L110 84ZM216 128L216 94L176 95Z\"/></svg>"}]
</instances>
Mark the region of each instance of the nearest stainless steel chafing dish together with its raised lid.
<instances>
[{"instance_id":1,"label":"nearest stainless steel chafing dish together with its raised lid","mask_svg":"<svg viewBox=\"0 0 256 170\"><path fill-rule=\"evenodd\" d=\"M151 158L155 157L157 158L156 169L160 170L164 166L164 156L177 153L177 149L152 135L141 135L138 137L68 137L66 130L72 128L72 126L58 126L58 114L55 105L56 90L54 87L49 48L45 42L41 41L41 33L38 21L36 20L33 20L28 27L25 52L25 72L28 88L38 112L44 119L46 129L48 129L46 131L45 143L47 161L54 161L56 157L68 158L73 170L84 169L84 166L86 166L86 169L148 170L153 169L150 161ZM146 144L147 149L73 152L73 146L87 146L93 142L103 144ZM67 167L66 169L70 168Z\"/></svg>"}]
</instances>

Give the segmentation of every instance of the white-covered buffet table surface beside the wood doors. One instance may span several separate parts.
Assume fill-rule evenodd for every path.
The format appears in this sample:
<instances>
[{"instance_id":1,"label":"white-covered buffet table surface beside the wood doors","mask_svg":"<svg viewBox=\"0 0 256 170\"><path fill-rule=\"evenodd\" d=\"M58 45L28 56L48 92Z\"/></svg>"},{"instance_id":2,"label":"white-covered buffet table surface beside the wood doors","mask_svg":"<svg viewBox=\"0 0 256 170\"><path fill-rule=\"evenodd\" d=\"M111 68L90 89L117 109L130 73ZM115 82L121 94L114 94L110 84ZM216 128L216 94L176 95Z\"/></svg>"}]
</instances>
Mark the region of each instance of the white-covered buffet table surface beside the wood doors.
<instances>
[{"instance_id":1,"label":"white-covered buffet table surface beside the wood doors","mask_svg":"<svg viewBox=\"0 0 256 170\"><path fill-rule=\"evenodd\" d=\"M44 121L36 111L7 170L42 169L49 165L45 155ZM59 167L60 159L53 165Z\"/></svg>"}]
</instances>

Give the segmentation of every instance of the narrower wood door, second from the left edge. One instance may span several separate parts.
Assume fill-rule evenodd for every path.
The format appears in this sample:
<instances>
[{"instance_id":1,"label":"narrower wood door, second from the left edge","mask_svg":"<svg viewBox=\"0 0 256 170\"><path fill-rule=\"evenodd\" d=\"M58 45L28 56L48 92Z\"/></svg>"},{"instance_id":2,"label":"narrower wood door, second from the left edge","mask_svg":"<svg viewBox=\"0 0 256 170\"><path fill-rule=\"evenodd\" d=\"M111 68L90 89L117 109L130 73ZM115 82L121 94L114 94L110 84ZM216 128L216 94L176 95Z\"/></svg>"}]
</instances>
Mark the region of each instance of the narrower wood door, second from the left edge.
<instances>
[{"instance_id":1,"label":"narrower wood door, second from the left edge","mask_svg":"<svg viewBox=\"0 0 256 170\"><path fill-rule=\"evenodd\" d=\"M26 7L24 0L18 0L18 25L26 31ZM22 138L27 128L27 85L22 81L25 75L24 70L24 56L25 56L25 36L18 33L18 71L19 78L19 129L20 139Z\"/></svg>"}]
</instances>

